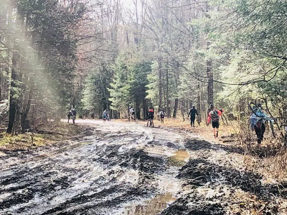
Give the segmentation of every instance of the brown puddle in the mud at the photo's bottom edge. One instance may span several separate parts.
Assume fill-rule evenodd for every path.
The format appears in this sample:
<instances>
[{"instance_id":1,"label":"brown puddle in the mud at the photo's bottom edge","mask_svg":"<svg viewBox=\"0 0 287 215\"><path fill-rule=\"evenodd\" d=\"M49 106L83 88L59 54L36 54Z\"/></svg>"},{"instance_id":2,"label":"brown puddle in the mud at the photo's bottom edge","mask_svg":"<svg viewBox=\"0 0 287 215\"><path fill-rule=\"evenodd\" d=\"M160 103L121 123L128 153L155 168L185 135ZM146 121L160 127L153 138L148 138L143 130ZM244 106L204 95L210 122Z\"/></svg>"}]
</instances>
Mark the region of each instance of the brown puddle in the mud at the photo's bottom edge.
<instances>
[{"instance_id":1,"label":"brown puddle in the mud at the photo's bottom edge","mask_svg":"<svg viewBox=\"0 0 287 215\"><path fill-rule=\"evenodd\" d=\"M163 211L168 203L174 202L176 198L171 193L165 193L151 200L144 202L143 205L131 205L126 207L125 215L156 215Z\"/></svg>"}]
</instances>

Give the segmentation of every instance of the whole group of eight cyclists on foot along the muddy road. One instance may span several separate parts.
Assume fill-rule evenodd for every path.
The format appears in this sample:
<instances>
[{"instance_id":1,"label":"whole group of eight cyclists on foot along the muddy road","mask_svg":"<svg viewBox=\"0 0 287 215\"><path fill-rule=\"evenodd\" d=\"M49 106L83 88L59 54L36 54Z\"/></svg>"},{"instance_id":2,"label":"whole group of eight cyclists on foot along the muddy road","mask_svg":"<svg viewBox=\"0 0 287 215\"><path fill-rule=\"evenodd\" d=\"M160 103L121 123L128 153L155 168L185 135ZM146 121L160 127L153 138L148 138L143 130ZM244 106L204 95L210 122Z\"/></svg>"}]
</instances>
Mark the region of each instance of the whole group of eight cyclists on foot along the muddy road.
<instances>
[{"instance_id":1,"label":"whole group of eight cyclists on foot along the muddy road","mask_svg":"<svg viewBox=\"0 0 287 215\"><path fill-rule=\"evenodd\" d=\"M250 106L250 105L249 105ZM250 107L251 108L251 107ZM258 148L261 147L261 141L263 140L263 135L265 133L265 122L270 121L270 123L273 123L273 119L270 118L267 114L262 112L262 105L261 104L256 104L252 108L252 114L250 117L250 125L251 129L255 131L256 136L257 136L257 146ZM153 107L150 107L148 110L148 121L146 126L149 125L154 127L153 124L153 119L154 119L154 113L155 109ZM219 108L215 109L213 104L209 106L207 109L207 125L212 125L213 128L213 135L214 139L218 138L218 133L219 133L219 119L221 116L223 116L224 109ZM75 124L75 119L76 119L77 111L72 108L69 113L68 113L68 123L70 118L72 117L73 119L73 124ZM164 124L164 117L166 116L166 113L164 111L164 108L160 109L160 112L158 113L158 116L161 119L161 124ZM192 105L192 108L190 109L188 113L188 117L190 117L190 125L191 127L194 127L195 119L196 116L199 117L199 113L197 112L195 105ZM135 110L130 106L129 107L129 117L132 118L132 120L137 120ZM198 118L199 119L199 118ZM109 114L107 110L104 110L103 112L103 121L106 122L106 120L109 119ZM200 120L198 120L198 124L200 123Z\"/></svg>"}]
</instances>

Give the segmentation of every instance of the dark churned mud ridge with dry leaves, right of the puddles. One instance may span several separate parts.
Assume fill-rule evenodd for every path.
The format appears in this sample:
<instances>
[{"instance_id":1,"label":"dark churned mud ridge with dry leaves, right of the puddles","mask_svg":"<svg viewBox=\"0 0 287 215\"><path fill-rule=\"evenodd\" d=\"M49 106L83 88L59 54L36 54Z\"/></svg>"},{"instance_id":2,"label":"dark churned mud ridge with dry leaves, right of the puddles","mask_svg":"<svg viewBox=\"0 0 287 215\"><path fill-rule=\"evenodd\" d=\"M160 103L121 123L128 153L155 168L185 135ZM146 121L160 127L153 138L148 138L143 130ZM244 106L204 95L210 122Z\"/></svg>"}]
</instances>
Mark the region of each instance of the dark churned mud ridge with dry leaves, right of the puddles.
<instances>
[{"instance_id":1,"label":"dark churned mud ridge with dry leaves, right of the puddles","mask_svg":"<svg viewBox=\"0 0 287 215\"><path fill-rule=\"evenodd\" d=\"M191 157L180 169L183 192L161 215L286 214L287 184L265 184L261 175L232 165L229 147L187 139Z\"/></svg>"}]
</instances>

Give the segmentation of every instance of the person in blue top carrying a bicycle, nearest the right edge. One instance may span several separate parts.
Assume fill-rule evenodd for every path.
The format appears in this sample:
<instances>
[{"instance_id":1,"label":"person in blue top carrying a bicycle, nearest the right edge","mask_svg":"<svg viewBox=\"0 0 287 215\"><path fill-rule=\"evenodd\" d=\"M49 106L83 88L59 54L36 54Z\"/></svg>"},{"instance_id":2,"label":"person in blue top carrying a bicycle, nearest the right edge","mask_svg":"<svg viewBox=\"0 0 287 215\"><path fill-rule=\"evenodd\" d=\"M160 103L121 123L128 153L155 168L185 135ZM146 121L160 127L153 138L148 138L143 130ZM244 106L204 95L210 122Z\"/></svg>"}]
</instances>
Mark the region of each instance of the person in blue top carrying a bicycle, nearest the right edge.
<instances>
[{"instance_id":1,"label":"person in blue top carrying a bicycle, nearest the right edge","mask_svg":"<svg viewBox=\"0 0 287 215\"><path fill-rule=\"evenodd\" d=\"M251 129L255 130L257 136L257 147L261 147L261 141L263 140L263 135L265 132L265 122L271 121L273 123L273 119L270 118L266 113L262 112L262 105L258 104L256 107L252 108L252 115L250 117L251 121Z\"/></svg>"}]
</instances>

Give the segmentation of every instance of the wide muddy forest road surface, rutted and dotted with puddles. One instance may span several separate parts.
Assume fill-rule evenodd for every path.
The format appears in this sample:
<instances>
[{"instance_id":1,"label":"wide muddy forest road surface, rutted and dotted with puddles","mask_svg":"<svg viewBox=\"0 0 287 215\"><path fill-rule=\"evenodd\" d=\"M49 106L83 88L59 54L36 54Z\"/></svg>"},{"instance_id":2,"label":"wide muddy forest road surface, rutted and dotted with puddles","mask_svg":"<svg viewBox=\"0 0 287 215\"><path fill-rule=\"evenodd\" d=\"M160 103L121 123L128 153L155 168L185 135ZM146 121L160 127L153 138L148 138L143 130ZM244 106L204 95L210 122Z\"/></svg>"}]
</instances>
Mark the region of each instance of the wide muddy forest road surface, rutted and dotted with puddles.
<instances>
[{"instance_id":1,"label":"wide muddy forest road surface, rutted and dotted with puddles","mask_svg":"<svg viewBox=\"0 0 287 215\"><path fill-rule=\"evenodd\" d=\"M285 214L285 185L244 171L232 148L172 129L77 122L93 133L1 155L0 214Z\"/></svg>"}]
</instances>

